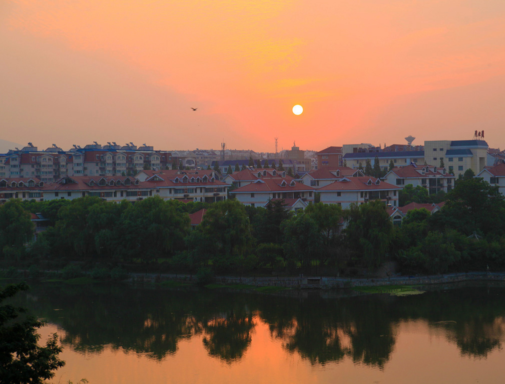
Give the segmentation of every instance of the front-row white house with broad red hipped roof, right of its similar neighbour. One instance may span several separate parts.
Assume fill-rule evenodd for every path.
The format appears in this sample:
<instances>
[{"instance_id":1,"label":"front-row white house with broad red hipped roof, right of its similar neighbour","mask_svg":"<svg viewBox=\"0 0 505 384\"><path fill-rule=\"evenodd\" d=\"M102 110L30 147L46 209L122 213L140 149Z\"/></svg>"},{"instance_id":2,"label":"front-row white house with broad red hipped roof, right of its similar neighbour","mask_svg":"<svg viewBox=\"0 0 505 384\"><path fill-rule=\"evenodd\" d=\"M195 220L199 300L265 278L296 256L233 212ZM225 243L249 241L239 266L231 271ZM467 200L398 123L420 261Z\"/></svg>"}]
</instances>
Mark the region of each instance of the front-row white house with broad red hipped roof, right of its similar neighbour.
<instances>
[{"instance_id":1,"label":"front-row white house with broad red hipped roof, right of its similar neighbour","mask_svg":"<svg viewBox=\"0 0 505 384\"><path fill-rule=\"evenodd\" d=\"M344 177L324 187L320 187L321 202L338 204L343 209L350 204L363 204L381 200L388 206L398 205L398 191L401 187L380 181L373 177Z\"/></svg>"}]
</instances>

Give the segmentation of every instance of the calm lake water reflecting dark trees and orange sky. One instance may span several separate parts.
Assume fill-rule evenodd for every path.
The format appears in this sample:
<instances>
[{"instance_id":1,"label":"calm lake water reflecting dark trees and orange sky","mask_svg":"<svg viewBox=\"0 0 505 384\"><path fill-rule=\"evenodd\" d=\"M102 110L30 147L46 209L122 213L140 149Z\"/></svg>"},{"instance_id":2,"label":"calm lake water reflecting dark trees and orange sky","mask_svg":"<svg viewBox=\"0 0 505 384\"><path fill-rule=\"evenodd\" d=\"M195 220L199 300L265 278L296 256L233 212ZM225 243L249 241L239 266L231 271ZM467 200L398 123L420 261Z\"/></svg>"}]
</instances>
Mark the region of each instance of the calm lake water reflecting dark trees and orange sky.
<instances>
[{"instance_id":1,"label":"calm lake water reflecting dark trees and orange sky","mask_svg":"<svg viewBox=\"0 0 505 384\"><path fill-rule=\"evenodd\" d=\"M61 337L55 382L483 384L505 382L504 298L42 283L18 303Z\"/></svg>"}]
</instances>

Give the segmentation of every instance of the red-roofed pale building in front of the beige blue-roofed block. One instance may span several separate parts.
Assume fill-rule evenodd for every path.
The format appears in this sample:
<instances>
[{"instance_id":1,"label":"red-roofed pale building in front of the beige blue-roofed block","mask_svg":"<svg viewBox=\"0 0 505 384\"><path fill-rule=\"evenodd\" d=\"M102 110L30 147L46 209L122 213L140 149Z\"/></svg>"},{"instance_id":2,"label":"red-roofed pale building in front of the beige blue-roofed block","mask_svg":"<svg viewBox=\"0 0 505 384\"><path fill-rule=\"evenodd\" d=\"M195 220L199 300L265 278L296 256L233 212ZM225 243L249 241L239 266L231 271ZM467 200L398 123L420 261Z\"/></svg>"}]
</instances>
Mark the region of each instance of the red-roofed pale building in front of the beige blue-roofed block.
<instances>
[{"instance_id":1,"label":"red-roofed pale building in front of the beige blue-roofed block","mask_svg":"<svg viewBox=\"0 0 505 384\"><path fill-rule=\"evenodd\" d=\"M454 188L455 176L446 172L445 168L433 166L416 166L414 163L406 167L393 168L384 180L401 188L412 184L415 188L421 186L428 190L428 194L439 191L449 192Z\"/></svg>"}]
</instances>

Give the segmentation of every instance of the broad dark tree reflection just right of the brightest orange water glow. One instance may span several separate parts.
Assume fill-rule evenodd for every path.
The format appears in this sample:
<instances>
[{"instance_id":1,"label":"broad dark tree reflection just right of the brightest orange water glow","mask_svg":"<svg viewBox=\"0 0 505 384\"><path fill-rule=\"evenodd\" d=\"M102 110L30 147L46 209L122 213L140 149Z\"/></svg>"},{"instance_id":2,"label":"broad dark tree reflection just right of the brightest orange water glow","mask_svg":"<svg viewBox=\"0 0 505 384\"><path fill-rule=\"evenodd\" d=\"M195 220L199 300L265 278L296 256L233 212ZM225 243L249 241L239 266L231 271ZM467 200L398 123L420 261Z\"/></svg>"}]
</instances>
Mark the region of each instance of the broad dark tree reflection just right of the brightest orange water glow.
<instances>
[{"instance_id":1,"label":"broad dark tree reflection just right of the brightest orange water glow","mask_svg":"<svg viewBox=\"0 0 505 384\"><path fill-rule=\"evenodd\" d=\"M393 349L393 321L383 310L384 300L363 305L363 298L339 300L329 307L326 300L301 300L276 311L261 312L273 337L284 342L311 364L338 362L350 356L355 362L383 366ZM287 315L287 317L285 316Z\"/></svg>"}]
</instances>

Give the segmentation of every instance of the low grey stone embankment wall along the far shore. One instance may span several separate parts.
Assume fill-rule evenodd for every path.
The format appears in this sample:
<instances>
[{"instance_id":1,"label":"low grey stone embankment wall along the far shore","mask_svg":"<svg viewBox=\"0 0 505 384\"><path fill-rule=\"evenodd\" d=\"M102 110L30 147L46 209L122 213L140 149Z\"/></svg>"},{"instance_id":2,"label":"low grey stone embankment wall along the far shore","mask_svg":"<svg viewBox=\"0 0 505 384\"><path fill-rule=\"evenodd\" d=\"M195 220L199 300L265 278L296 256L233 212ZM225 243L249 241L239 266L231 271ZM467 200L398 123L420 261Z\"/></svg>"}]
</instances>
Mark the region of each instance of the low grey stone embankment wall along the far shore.
<instances>
[{"instance_id":1,"label":"low grey stone embankment wall along the far shore","mask_svg":"<svg viewBox=\"0 0 505 384\"><path fill-rule=\"evenodd\" d=\"M194 275L155 275L155 274L132 274L132 281L163 281L177 280L195 282ZM493 281L505 282L505 273L450 273L448 275L416 276L416 277L392 277L388 279L349 279L331 277L228 277L217 276L215 283L232 285L246 284L256 287L276 286L285 288L312 288L312 289L338 289L352 287L371 287L384 285L429 285L459 283L467 281Z\"/></svg>"}]
</instances>

